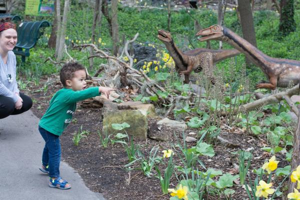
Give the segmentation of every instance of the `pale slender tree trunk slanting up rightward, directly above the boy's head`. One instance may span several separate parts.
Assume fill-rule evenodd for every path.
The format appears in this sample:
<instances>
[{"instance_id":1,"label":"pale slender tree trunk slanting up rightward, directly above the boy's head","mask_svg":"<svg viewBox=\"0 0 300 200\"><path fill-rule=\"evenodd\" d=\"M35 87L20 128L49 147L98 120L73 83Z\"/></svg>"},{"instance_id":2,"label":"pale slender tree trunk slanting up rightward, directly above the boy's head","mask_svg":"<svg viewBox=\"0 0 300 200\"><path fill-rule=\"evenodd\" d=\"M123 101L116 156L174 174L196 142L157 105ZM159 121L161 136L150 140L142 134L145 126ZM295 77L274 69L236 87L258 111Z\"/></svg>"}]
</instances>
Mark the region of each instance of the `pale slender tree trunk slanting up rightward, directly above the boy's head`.
<instances>
[{"instance_id":1,"label":"pale slender tree trunk slanting up rightward, directly above the boy's head","mask_svg":"<svg viewBox=\"0 0 300 200\"><path fill-rule=\"evenodd\" d=\"M60 30L60 38L59 38L59 48L57 53L57 61L60 61L63 56L63 48L64 48L64 37L65 37L65 30L67 24L67 14L70 8L69 0L64 0L64 8L63 8L63 16L62 16L62 23L61 23L61 30Z\"/></svg>"}]
</instances>

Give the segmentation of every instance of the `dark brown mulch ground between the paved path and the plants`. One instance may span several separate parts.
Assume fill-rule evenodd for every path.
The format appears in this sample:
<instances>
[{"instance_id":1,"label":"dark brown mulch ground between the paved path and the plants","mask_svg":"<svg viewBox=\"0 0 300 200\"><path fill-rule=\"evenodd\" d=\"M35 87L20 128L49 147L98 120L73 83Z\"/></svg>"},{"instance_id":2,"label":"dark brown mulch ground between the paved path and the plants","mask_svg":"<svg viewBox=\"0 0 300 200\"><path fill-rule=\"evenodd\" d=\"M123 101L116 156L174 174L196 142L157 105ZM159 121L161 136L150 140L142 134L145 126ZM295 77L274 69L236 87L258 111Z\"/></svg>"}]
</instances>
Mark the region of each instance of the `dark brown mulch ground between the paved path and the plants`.
<instances>
[{"instance_id":1,"label":"dark brown mulch ground between the paved path and the plants","mask_svg":"<svg viewBox=\"0 0 300 200\"><path fill-rule=\"evenodd\" d=\"M31 110L37 117L41 117L48 107L52 95L61 88L59 83L52 81L54 78L41 78L40 85L28 87L23 92L27 93L33 98L33 106ZM39 90L46 82L48 82L47 90ZM77 109L73 116L73 121L65 129L60 136L61 139L61 160L67 162L72 166L83 178L87 187L92 191L100 192L106 199L169 199L168 195L161 195L161 188L159 180L155 177L155 170L151 177L146 177L140 170L133 169L130 172L123 166L128 163L127 154L123 146L115 143L113 146L108 145L107 148L101 146L98 131L102 129L101 108L81 107L80 102L77 103ZM171 148L171 144L176 144L177 140L182 144L182 132L167 128L158 127L156 122L158 119L148 120L148 134L162 135L167 137L167 141L157 141L148 138L146 141L134 140L134 143L139 144L141 151L148 155L153 146L158 146L157 155L162 156L162 150ZM72 141L74 132L86 130L89 134L83 137L78 146L75 146ZM197 132L198 130L189 128L184 131L186 136L190 132ZM175 138L174 133L177 135ZM213 157L200 156L200 160L205 164L206 168L215 168L222 170L223 174L226 172L232 175L238 174L238 154L240 149L253 149L252 161L250 169L259 168L263 162L271 157L271 154L261 150L260 148L267 144L266 138L254 137L239 128L228 128L223 126L220 136L229 140L232 143L238 144L237 148L227 148L220 145L213 145L215 155ZM188 146L195 145L195 142L188 143ZM179 152L179 151L177 151ZM276 159L279 160L278 167L287 165L285 155L276 154ZM181 165L177 153L173 157L175 165ZM164 164L159 164L159 168L164 170L167 165L167 159ZM235 167L234 167L235 166ZM132 165L132 168L138 165ZM199 170L205 171L201 166ZM179 171L176 171L180 174ZM130 175L130 178L129 178ZM255 175L251 173L254 178ZM67 177L65 177L67 179ZM128 181L130 179L130 181ZM126 181L127 180L127 181ZM174 175L170 181L170 188L174 188L177 184ZM276 182L279 182L276 180ZM71 183L70 183L71 184ZM248 199L246 191L235 182L233 187L235 193L232 199ZM224 196L218 198L218 195L213 194L213 191L204 197L204 199L225 199ZM278 198L279 199L279 198Z\"/></svg>"}]
</instances>

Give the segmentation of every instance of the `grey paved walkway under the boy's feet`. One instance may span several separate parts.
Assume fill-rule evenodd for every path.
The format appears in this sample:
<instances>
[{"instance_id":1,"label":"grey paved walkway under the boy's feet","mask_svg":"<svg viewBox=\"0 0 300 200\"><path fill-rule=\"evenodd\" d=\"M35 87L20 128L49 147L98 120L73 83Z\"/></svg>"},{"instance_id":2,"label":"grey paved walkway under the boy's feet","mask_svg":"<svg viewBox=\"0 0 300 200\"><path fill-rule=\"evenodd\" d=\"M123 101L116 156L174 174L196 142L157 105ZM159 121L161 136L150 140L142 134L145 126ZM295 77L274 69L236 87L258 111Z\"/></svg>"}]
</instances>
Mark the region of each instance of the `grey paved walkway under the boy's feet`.
<instances>
[{"instance_id":1,"label":"grey paved walkway under the boy's feet","mask_svg":"<svg viewBox=\"0 0 300 200\"><path fill-rule=\"evenodd\" d=\"M0 119L0 199L104 200L65 162L60 162L60 174L72 187L62 190L48 186L48 176L38 169L44 145L38 121L30 110Z\"/></svg>"}]
</instances>

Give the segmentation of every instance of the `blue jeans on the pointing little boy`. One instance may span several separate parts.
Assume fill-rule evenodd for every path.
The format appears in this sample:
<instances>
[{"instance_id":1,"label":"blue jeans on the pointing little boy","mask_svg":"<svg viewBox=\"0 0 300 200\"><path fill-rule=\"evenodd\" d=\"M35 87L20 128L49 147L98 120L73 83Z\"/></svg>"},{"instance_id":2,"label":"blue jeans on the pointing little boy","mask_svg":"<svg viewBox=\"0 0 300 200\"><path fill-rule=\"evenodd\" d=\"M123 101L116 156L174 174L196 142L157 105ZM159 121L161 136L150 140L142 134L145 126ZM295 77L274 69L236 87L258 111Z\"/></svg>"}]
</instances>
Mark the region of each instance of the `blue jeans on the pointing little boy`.
<instances>
[{"instance_id":1,"label":"blue jeans on the pointing little boy","mask_svg":"<svg viewBox=\"0 0 300 200\"><path fill-rule=\"evenodd\" d=\"M59 177L59 163L60 163L60 143L59 136L38 126L38 130L45 140L45 147L42 152L42 164L48 165L49 176Z\"/></svg>"}]
</instances>

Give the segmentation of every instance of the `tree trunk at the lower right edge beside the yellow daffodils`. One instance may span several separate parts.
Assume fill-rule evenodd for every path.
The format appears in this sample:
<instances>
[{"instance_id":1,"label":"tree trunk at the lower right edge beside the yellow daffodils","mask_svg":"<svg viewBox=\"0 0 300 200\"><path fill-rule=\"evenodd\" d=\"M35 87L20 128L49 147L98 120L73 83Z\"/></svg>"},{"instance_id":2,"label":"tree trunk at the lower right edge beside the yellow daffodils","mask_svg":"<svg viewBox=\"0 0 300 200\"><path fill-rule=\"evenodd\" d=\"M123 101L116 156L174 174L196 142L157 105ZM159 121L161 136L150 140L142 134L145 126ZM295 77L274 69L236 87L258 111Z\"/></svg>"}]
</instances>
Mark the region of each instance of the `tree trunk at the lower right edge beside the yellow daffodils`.
<instances>
[{"instance_id":1,"label":"tree trunk at the lower right edge beside the yellow daffodils","mask_svg":"<svg viewBox=\"0 0 300 200\"><path fill-rule=\"evenodd\" d=\"M300 110L299 110L300 111ZM293 137L293 149L292 149L292 154L291 154L291 170L295 170L297 166L300 164L300 117L298 118L298 125L296 132L294 133ZM288 192L293 192L293 189L296 186L296 182L291 182L290 181L290 176L289 176L289 181L288 181Z\"/></svg>"}]
</instances>

